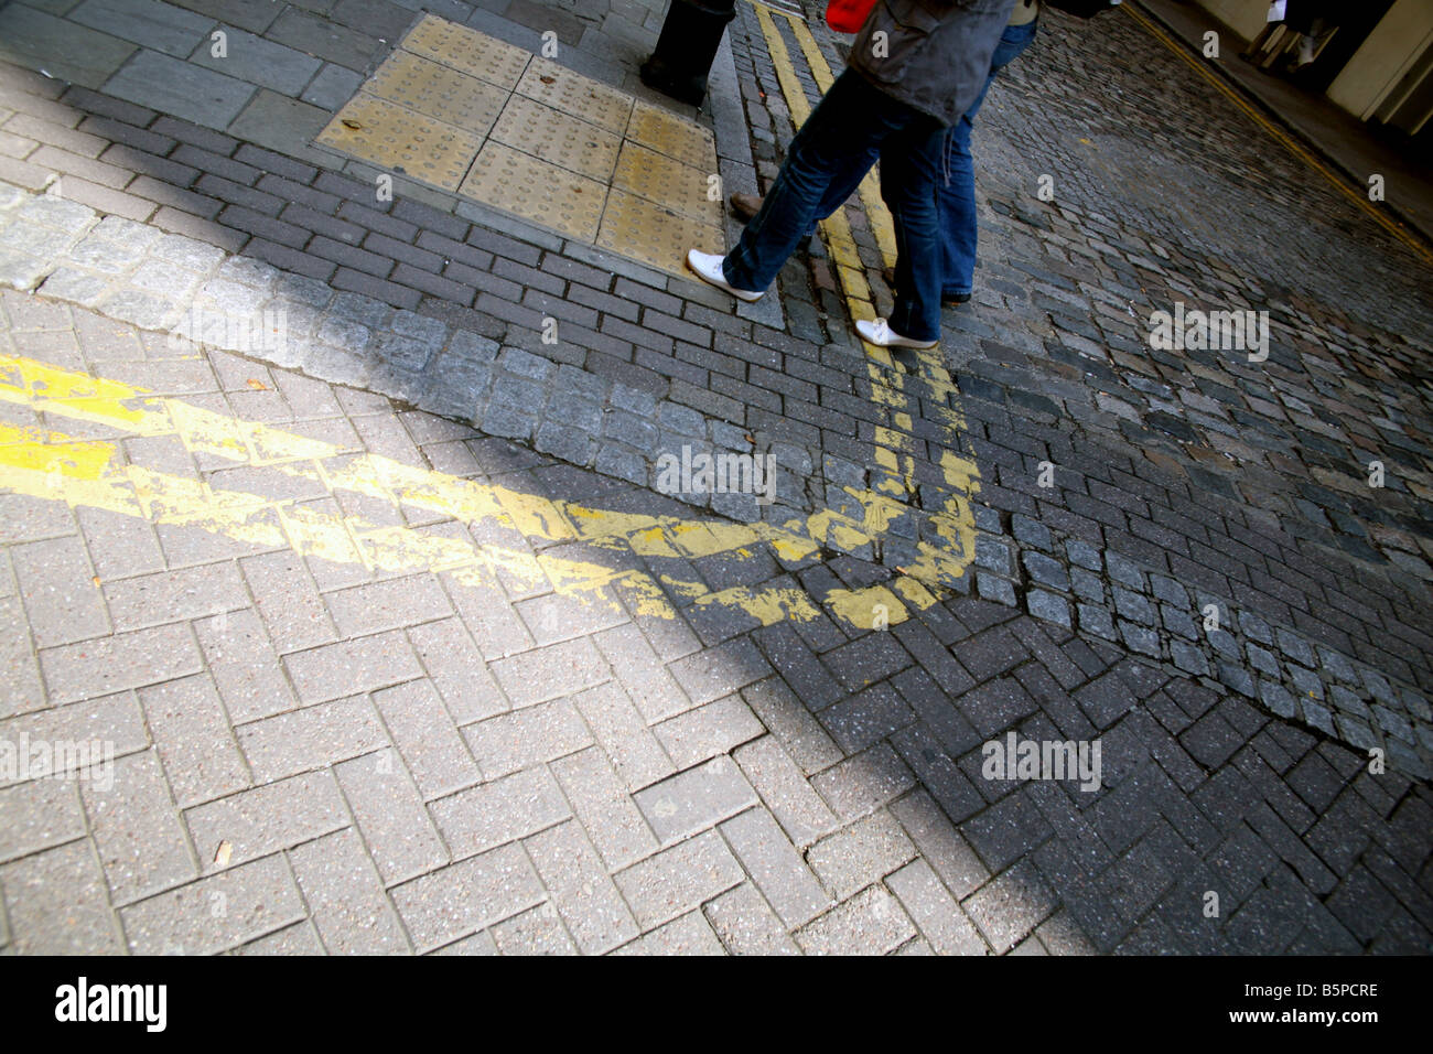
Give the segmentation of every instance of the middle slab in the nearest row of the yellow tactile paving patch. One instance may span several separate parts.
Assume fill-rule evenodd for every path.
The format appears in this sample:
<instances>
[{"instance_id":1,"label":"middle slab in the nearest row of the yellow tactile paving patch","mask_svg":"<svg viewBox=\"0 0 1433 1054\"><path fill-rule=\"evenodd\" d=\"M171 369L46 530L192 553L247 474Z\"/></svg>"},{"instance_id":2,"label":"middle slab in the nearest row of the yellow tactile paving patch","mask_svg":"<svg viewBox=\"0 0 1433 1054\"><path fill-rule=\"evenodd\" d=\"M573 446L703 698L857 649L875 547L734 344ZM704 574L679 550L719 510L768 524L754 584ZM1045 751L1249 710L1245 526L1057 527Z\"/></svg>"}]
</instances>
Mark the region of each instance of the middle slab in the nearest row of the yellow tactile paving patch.
<instances>
[{"instance_id":1,"label":"middle slab in the nearest row of the yellow tactile paving patch","mask_svg":"<svg viewBox=\"0 0 1433 1054\"><path fill-rule=\"evenodd\" d=\"M590 244L608 188L489 139L459 194Z\"/></svg>"}]
</instances>

